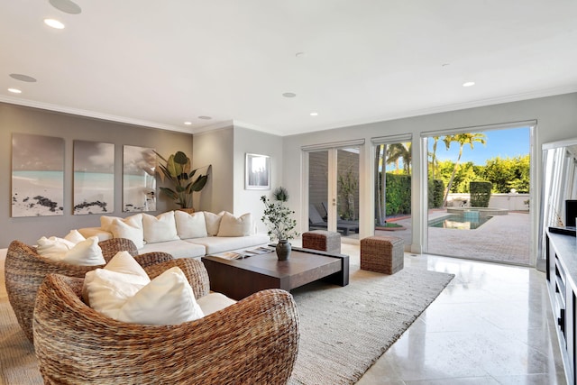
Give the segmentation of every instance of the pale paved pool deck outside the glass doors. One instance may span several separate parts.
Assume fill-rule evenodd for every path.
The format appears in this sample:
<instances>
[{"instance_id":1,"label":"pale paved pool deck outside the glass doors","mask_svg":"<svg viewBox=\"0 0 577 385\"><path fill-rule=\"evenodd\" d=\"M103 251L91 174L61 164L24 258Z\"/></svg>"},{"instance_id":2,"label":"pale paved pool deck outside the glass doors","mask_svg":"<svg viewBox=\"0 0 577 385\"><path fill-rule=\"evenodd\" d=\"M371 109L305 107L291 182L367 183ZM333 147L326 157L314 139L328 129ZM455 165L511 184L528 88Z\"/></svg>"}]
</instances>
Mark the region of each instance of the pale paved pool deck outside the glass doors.
<instances>
[{"instance_id":1,"label":"pale paved pool deck outside the glass doors","mask_svg":"<svg viewBox=\"0 0 577 385\"><path fill-rule=\"evenodd\" d=\"M429 219L448 215L446 210L431 210ZM391 221L393 222L393 221ZM398 236L411 242L411 218L398 218L394 223L407 227L401 231L375 231L375 235ZM429 254L472 260L529 264L529 212L495 215L475 230L428 227Z\"/></svg>"}]
</instances>

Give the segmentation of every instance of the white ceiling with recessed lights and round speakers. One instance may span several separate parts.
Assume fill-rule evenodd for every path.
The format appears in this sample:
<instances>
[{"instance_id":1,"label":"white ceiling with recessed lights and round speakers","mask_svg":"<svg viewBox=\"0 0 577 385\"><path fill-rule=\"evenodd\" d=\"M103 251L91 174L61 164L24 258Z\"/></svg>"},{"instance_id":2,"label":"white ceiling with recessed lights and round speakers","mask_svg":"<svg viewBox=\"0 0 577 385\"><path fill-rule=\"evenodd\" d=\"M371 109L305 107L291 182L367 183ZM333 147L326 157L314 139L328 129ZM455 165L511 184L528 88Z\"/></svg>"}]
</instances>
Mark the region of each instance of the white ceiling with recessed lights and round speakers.
<instances>
[{"instance_id":1,"label":"white ceiling with recessed lights and round speakers","mask_svg":"<svg viewBox=\"0 0 577 385\"><path fill-rule=\"evenodd\" d=\"M0 0L0 101L289 135L577 91L575 0L76 3Z\"/></svg>"}]
</instances>

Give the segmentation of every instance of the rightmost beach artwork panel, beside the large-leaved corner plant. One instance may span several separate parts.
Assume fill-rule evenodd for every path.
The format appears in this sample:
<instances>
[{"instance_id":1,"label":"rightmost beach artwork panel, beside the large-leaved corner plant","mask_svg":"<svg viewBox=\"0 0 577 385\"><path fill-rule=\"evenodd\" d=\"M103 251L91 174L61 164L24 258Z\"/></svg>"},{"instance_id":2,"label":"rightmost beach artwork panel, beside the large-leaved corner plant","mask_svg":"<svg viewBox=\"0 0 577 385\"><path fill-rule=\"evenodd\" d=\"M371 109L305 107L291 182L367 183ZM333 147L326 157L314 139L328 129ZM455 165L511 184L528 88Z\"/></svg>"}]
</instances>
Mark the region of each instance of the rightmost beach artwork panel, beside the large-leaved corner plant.
<instances>
[{"instance_id":1,"label":"rightmost beach artwork panel, beside the large-leaved corner plant","mask_svg":"<svg viewBox=\"0 0 577 385\"><path fill-rule=\"evenodd\" d=\"M156 210L156 153L154 149L124 146L123 211Z\"/></svg>"}]
</instances>

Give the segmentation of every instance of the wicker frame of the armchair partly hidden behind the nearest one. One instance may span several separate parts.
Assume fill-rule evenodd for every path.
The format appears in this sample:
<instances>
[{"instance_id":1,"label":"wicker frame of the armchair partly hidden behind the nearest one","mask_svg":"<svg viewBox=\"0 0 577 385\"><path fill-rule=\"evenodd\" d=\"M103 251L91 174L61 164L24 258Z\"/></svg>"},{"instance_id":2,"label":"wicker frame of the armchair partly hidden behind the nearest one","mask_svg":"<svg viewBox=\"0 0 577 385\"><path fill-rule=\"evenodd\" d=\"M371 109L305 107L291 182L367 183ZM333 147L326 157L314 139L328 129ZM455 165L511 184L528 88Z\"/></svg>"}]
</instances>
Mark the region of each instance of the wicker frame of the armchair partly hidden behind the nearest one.
<instances>
[{"instance_id":1,"label":"wicker frame of the armchair partly hidden behind the nearest one","mask_svg":"<svg viewBox=\"0 0 577 385\"><path fill-rule=\"evenodd\" d=\"M172 256L166 252L149 252L136 255L138 250L134 243L124 238L114 238L98 244L102 249L105 261L109 261L116 252L120 251L130 252L143 267L160 261L172 260ZM10 243L5 261L6 291L18 324L20 324L30 342L33 343L32 313L34 311L34 302L42 280L49 273L84 278L87 271L101 267L103 266L76 266L69 263L50 261L41 257L33 246L20 241Z\"/></svg>"}]
</instances>

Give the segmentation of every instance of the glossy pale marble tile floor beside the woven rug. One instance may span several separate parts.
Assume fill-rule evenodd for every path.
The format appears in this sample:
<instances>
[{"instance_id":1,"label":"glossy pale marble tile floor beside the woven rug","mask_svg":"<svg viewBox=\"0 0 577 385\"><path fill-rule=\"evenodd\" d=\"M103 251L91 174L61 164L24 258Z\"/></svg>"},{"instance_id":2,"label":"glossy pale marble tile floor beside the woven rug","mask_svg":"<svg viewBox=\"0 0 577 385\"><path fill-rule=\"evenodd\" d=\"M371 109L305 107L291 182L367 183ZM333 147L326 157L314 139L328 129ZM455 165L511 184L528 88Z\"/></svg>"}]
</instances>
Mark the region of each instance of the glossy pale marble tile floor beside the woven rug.
<instances>
[{"instance_id":1,"label":"glossy pale marble tile floor beside the woven rug","mask_svg":"<svg viewBox=\"0 0 577 385\"><path fill-rule=\"evenodd\" d=\"M351 264L359 246L343 244ZM358 385L565 384L545 273L406 252L455 278Z\"/></svg>"}]
</instances>

